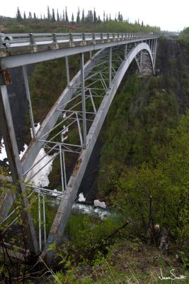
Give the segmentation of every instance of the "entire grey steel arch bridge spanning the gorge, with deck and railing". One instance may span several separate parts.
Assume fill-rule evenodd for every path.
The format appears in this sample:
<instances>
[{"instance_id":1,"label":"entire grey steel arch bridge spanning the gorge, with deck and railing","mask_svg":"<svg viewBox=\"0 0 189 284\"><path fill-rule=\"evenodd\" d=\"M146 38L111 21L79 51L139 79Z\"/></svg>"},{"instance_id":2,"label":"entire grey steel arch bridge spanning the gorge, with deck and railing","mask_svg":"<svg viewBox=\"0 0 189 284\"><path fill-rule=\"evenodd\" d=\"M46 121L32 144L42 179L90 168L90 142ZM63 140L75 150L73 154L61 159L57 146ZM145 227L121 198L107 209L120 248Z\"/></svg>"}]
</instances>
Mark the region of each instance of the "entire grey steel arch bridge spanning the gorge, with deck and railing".
<instances>
[{"instance_id":1,"label":"entire grey steel arch bridge spanning the gorge, with deck and railing","mask_svg":"<svg viewBox=\"0 0 189 284\"><path fill-rule=\"evenodd\" d=\"M88 160L122 77L133 60L137 62L140 75L154 75L158 38L159 35L137 33L0 34L0 116L11 170L11 177L6 177L6 180L17 185L18 180L21 181L17 192L11 193L5 189L1 194L0 222L5 226L3 234L18 222L18 217L12 218L15 209L11 208L13 202L24 194L20 217L24 222L27 248L30 253L38 255L42 252L42 256L50 260L52 252L47 251L50 244L53 242L57 246L61 244L64 228ZM95 52L93 56L92 51ZM90 53L90 59L84 64L86 52ZM80 54L81 70L70 81L69 55L74 54ZM35 133L26 66L62 57L66 59L67 87ZM33 139L21 160L6 87L11 83L9 68L17 66L23 66L33 132ZM71 131L75 133L74 138L70 135ZM36 160L41 148L44 148L46 153ZM45 162L47 155L52 155L52 158ZM69 155L75 157L71 173L67 169ZM38 187L31 182L35 175L55 158L59 159L62 180L61 190L56 195L52 189ZM28 188L30 188L29 193ZM24 209L29 207L31 195L35 195L38 200L37 232L30 212ZM45 225L46 195L49 198L59 199L59 207L48 236ZM11 246L8 246L8 249L11 251ZM22 258L22 249L20 252Z\"/></svg>"}]
</instances>

